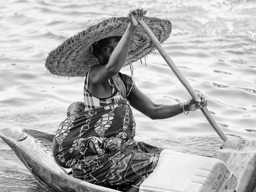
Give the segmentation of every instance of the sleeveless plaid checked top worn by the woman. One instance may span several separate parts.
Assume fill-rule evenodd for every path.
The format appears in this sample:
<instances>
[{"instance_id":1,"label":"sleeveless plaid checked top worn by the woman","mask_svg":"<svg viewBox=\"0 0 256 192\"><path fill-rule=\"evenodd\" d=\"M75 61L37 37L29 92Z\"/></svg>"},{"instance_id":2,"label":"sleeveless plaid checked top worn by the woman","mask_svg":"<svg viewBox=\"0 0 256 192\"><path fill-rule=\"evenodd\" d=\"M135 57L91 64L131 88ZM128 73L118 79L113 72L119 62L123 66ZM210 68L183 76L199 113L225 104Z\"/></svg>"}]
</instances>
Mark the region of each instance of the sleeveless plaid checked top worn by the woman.
<instances>
[{"instance_id":1,"label":"sleeveless plaid checked top worn by the woman","mask_svg":"<svg viewBox=\"0 0 256 192\"><path fill-rule=\"evenodd\" d=\"M122 96L122 93L120 93L119 90L116 88L116 86L113 82L113 78L108 80L109 85L112 87L112 96L111 97L99 99L99 98L93 96L92 94L90 94L88 91L88 77L89 77L88 74L89 73L90 73L90 70L87 73L87 76L85 77L85 81L84 81L84 104L85 104L84 111L96 109L96 108L105 106L111 102L118 101L120 99L125 99ZM125 75L122 73L118 73L118 75L125 84L126 92L127 92L127 96L128 96L129 93L131 92L132 87L134 86L134 81L128 75Z\"/></svg>"}]
</instances>

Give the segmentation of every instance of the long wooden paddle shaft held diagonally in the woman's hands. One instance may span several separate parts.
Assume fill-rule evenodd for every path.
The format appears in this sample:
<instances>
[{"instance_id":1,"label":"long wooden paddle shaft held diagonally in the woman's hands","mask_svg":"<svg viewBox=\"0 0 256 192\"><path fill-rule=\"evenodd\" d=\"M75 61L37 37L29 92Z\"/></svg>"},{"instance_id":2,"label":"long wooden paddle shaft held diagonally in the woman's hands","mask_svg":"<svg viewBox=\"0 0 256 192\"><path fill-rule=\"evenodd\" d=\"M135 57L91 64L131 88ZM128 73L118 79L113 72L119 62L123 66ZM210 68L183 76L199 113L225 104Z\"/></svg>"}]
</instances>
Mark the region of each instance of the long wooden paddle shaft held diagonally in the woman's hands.
<instances>
[{"instance_id":1,"label":"long wooden paddle shaft held diagonally in the woman's hands","mask_svg":"<svg viewBox=\"0 0 256 192\"><path fill-rule=\"evenodd\" d=\"M180 82L184 85L186 90L189 92L189 94L192 96L194 99L198 99L198 94L195 92L195 90L191 87L189 82L186 80L186 78L180 73L180 70L178 67L174 64L172 59L169 57L169 55L166 53L166 51L163 49L162 45L160 42L157 40L157 38L154 36L154 34L151 32L151 30L148 28L146 23L143 20L138 19L135 15L134 17L137 19L138 23L140 26L144 29L148 37L151 39L151 41L154 43L154 45L157 47L157 50L160 52L162 55L163 59L166 61L166 63L169 65L169 67L172 69L173 73L177 76L177 78L180 80ZM218 126L217 122L215 119L213 119L211 113L209 110L205 108L200 108L201 111L203 112L204 116L212 125L212 128L216 131L216 133L221 137L221 139L225 142L229 138L227 135L224 133L224 131Z\"/></svg>"}]
</instances>

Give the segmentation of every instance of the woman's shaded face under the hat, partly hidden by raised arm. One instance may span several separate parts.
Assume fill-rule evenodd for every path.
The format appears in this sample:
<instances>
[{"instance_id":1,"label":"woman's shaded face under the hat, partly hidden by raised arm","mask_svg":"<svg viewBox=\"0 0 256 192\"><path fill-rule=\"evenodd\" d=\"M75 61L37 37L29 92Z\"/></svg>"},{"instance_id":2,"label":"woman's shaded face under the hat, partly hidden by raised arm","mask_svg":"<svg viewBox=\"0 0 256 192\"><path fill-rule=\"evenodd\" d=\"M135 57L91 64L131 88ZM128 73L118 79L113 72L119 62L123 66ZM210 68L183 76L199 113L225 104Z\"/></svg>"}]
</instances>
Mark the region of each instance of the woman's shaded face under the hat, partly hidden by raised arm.
<instances>
[{"instance_id":1,"label":"woman's shaded face under the hat, partly hidden by raised arm","mask_svg":"<svg viewBox=\"0 0 256 192\"><path fill-rule=\"evenodd\" d=\"M99 64L105 65L119 43L121 37L105 38L93 45L93 54L99 59Z\"/></svg>"}]
</instances>

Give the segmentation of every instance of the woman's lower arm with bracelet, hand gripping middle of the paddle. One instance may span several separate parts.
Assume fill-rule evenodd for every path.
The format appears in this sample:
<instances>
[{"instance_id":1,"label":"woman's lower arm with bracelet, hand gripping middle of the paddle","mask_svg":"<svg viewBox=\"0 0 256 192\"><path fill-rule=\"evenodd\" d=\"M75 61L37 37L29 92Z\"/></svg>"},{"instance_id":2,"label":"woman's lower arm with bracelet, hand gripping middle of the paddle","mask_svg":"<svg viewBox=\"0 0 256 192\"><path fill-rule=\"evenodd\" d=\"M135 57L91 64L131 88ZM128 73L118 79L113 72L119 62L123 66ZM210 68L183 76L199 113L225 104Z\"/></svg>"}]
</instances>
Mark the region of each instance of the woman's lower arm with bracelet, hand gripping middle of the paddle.
<instances>
[{"instance_id":1,"label":"woman's lower arm with bracelet, hand gripping middle of the paddle","mask_svg":"<svg viewBox=\"0 0 256 192\"><path fill-rule=\"evenodd\" d=\"M140 111L151 119L166 119L183 113L185 111L195 111L200 107L207 106L207 100L202 93L198 94L199 99L189 99L187 102L175 105L155 104L136 85L131 89L128 100L133 108ZM198 105L196 105L198 104Z\"/></svg>"}]
</instances>

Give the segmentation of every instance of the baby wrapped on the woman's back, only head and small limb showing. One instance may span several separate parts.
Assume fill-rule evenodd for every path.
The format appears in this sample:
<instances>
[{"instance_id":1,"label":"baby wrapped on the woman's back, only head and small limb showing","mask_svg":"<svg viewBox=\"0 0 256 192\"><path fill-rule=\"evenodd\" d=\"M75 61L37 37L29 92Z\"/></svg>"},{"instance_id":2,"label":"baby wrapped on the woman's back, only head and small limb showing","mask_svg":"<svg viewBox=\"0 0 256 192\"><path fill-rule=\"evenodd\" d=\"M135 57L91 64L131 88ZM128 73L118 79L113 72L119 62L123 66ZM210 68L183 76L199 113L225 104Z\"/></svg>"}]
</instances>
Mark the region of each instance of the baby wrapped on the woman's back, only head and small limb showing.
<instances>
[{"instance_id":1,"label":"baby wrapped on the woman's back, only head and small limb showing","mask_svg":"<svg viewBox=\"0 0 256 192\"><path fill-rule=\"evenodd\" d=\"M84 102L73 102L70 104L70 106L67 108L67 117L70 117L76 113L81 113L84 111ZM85 152L85 155L89 154L97 154L97 150L95 148L95 145L92 141L89 141L89 144L87 145L88 149Z\"/></svg>"}]
</instances>

